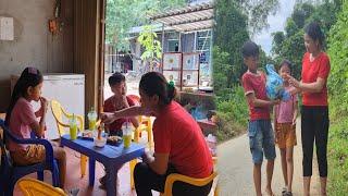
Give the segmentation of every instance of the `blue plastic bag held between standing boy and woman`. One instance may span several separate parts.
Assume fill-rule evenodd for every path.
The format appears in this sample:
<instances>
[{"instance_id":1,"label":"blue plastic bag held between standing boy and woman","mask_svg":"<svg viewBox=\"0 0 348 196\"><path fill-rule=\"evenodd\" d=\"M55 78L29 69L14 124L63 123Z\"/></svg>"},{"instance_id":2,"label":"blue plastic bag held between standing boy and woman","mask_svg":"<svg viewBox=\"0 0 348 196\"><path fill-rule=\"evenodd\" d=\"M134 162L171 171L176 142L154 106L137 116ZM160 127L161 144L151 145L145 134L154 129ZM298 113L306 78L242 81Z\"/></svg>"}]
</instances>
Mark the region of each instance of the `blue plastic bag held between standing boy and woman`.
<instances>
[{"instance_id":1,"label":"blue plastic bag held between standing boy and woman","mask_svg":"<svg viewBox=\"0 0 348 196\"><path fill-rule=\"evenodd\" d=\"M283 78L275 72L273 64L265 65L268 72L268 81L265 90L271 100L281 99L287 101L290 99L290 94L284 89Z\"/></svg>"}]
</instances>

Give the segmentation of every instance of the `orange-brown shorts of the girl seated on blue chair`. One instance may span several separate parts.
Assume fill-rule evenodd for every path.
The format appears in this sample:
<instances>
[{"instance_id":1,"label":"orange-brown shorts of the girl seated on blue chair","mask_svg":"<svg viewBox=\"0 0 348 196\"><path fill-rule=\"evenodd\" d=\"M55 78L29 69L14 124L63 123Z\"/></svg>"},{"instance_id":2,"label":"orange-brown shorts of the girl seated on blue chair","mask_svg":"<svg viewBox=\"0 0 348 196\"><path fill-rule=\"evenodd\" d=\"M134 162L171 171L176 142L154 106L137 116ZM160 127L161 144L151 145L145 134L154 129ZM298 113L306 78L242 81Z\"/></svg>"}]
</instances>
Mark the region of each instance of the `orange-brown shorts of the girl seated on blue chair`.
<instances>
[{"instance_id":1,"label":"orange-brown shorts of the girl seated on blue chair","mask_svg":"<svg viewBox=\"0 0 348 196\"><path fill-rule=\"evenodd\" d=\"M27 145L26 149L11 151L11 158L17 166L28 166L45 161L46 151L42 145Z\"/></svg>"}]
</instances>

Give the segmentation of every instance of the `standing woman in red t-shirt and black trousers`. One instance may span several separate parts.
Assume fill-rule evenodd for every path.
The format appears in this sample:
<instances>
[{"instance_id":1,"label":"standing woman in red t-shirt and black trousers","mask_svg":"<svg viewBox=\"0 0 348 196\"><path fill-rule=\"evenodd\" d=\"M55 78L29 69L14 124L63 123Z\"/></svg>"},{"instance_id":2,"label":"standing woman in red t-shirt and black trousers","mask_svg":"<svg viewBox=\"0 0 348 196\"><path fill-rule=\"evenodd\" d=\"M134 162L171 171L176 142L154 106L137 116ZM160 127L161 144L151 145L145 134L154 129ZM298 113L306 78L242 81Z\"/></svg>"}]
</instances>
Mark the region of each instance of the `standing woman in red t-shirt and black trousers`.
<instances>
[{"instance_id":1,"label":"standing woman in red t-shirt and black trousers","mask_svg":"<svg viewBox=\"0 0 348 196\"><path fill-rule=\"evenodd\" d=\"M316 23L310 23L304 28L307 52L302 60L302 81L299 82L287 75L290 84L302 93L301 137L304 196L310 195L314 139L321 195L326 195L326 151L330 125L326 82L330 73L330 59L323 51L323 40L324 35L320 26Z\"/></svg>"}]
</instances>

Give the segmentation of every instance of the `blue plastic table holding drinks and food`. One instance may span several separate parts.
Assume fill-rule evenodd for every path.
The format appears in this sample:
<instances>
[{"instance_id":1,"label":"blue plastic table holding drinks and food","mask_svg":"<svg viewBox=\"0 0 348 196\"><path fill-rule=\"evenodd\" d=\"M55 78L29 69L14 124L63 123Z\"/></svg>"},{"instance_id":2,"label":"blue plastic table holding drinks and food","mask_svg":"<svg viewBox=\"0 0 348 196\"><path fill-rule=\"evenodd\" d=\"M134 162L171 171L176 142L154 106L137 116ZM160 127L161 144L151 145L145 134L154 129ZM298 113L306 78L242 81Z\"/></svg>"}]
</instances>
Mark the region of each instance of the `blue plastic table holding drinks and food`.
<instances>
[{"instance_id":1,"label":"blue plastic table holding drinks and food","mask_svg":"<svg viewBox=\"0 0 348 196\"><path fill-rule=\"evenodd\" d=\"M95 184L96 160L105 167L107 171L107 195L116 195L115 182L119 169L126 162L139 158L145 152L145 146L132 143L129 148L105 145L102 148L96 147L92 140L77 138L70 139L70 135L61 137L61 145L89 157L89 186Z\"/></svg>"}]
</instances>

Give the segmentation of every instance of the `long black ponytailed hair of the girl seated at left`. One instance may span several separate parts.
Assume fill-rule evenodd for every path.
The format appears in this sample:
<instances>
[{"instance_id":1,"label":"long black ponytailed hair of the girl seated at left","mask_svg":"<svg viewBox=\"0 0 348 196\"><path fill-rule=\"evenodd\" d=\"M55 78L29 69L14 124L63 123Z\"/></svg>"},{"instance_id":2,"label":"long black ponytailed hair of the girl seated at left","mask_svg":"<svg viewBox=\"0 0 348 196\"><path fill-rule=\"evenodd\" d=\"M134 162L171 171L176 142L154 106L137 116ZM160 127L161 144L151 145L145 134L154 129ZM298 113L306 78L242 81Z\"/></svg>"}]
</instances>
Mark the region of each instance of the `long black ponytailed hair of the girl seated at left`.
<instances>
[{"instance_id":1,"label":"long black ponytailed hair of the girl seated at left","mask_svg":"<svg viewBox=\"0 0 348 196\"><path fill-rule=\"evenodd\" d=\"M29 87L36 87L44 82L44 76L36 68L26 68L21 74L21 77L16 82L10 106L7 111L5 124L9 125L12 110L21 97L25 97Z\"/></svg>"}]
</instances>

